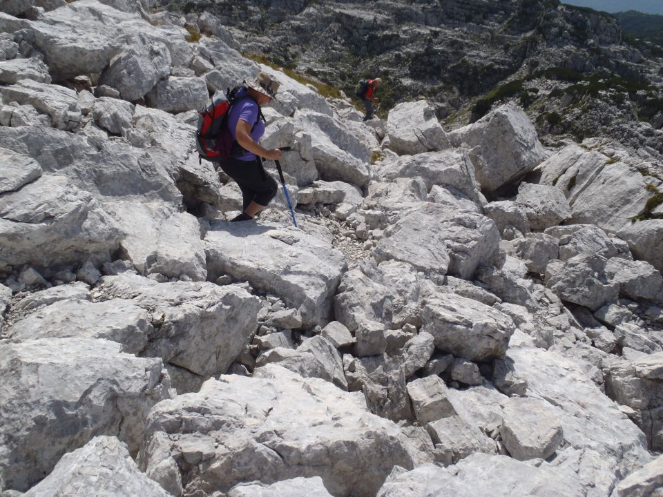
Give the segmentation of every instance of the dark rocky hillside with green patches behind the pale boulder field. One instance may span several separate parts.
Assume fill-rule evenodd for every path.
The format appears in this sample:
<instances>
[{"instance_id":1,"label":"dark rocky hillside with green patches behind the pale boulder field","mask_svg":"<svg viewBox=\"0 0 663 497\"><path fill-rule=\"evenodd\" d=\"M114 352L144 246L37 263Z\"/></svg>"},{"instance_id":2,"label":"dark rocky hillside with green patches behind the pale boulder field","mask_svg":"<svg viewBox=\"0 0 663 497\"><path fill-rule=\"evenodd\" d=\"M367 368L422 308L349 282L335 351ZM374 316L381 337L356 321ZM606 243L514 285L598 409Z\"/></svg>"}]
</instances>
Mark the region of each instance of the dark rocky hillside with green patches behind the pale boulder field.
<instances>
[{"instance_id":1,"label":"dark rocky hillside with green patches behind the pale boulder field","mask_svg":"<svg viewBox=\"0 0 663 497\"><path fill-rule=\"evenodd\" d=\"M557 0L151 0L175 15L211 12L244 53L354 92L379 75L383 108L421 96L464 126L512 99L539 135L611 137L660 159L662 49L625 39L611 14Z\"/></svg>"}]
</instances>

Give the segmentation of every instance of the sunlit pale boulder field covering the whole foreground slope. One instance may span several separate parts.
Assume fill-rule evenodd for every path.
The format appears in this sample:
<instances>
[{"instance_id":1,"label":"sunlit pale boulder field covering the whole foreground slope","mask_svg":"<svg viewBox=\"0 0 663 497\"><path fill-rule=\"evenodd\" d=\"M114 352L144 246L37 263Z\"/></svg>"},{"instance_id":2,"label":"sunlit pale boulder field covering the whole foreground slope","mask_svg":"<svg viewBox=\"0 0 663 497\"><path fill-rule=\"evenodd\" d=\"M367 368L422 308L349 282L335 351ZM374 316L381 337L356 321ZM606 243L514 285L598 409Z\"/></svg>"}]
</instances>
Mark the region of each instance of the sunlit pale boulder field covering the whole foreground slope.
<instances>
[{"instance_id":1,"label":"sunlit pale boulder field covering the whole foreground slope","mask_svg":"<svg viewBox=\"0 0 663 497\"><path fill-rule=\"evenodd\" d=\"M511 104L449 132L425 100L364 124L276 72L263 143L293 148L300 227L281 197L230 224L195 109L273 69L209 13L8 6L3 496L661 487L655 164L544 148Z\"/></svg>"}]
</instances>

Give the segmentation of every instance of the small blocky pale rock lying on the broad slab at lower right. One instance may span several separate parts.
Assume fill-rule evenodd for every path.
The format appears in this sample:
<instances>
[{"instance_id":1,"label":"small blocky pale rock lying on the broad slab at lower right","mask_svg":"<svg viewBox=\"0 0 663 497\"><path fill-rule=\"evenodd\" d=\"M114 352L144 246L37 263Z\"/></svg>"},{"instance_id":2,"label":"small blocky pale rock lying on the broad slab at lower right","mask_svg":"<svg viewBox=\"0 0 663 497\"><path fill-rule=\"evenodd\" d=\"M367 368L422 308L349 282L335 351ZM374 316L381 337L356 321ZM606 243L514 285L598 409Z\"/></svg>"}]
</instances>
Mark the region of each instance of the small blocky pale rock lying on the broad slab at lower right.
<instances>
[{"instance_id":1,"label":"small blocky pale rock lying on the broad slab at lower right","mask_svg":"<svg viewBox=\"0 0 663 497\"><path fill-rule=\"evenodd\" d=\"M503 410L499 433L512 458L548 459L564 439L561 424L536 398L514 397Z\"/></svg>"}]
</instances>

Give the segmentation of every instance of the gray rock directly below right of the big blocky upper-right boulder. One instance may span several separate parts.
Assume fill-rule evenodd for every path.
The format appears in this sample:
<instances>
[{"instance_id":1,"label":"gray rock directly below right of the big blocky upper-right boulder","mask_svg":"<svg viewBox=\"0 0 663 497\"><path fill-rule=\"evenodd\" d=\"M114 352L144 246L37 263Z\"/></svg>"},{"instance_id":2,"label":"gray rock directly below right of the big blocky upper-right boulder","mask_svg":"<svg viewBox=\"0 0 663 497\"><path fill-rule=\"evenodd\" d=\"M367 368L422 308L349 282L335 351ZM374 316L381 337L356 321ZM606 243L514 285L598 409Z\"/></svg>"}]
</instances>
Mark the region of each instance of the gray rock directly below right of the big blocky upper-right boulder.
<instances>
[{"instance_id":1,"label":"gray rock directly below right of the big blocky upper-right boulder","mask_svg":"<svg viewBox=\"0 0 663 497\"><path fill-rule=\"evenodd\" d=\"M532 229L544 230L570 217L566 197L557 186L521 183L516 202L523 206Z\"/></svg>"}]
</instances>

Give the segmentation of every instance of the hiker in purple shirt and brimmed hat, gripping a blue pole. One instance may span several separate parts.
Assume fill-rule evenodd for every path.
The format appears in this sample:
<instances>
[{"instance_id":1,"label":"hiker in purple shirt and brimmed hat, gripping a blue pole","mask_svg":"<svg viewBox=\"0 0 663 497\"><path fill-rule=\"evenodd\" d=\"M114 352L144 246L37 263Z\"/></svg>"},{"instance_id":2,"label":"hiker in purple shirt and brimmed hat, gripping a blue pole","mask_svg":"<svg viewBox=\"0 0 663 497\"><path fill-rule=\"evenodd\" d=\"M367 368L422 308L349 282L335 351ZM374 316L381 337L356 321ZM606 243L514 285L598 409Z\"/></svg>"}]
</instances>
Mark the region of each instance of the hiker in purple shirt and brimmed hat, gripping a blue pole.
<instances>
[{"instance_id":1,"label":"hiker in purple shirt and brimmed hat, gripping a blue pole","mask_svg":"<svg viewBox=\"0 0 663 497\"><path fill-rule=\"evenodd\" d=\"M228 128L233 135L230 157L219 162L220 168L240 187L243 210L231 222L248 221L262 211L278 191L276 181L262 166L262 158L278 160L281 150L267 149L258 141L265 133L265 118L260 107L271 103L280 84L266 72L260 72L255 81L244 81L244 87L235 96L228 115ZM247 98L247 96L249 98Z\"/></svg>"}]
</instances>

